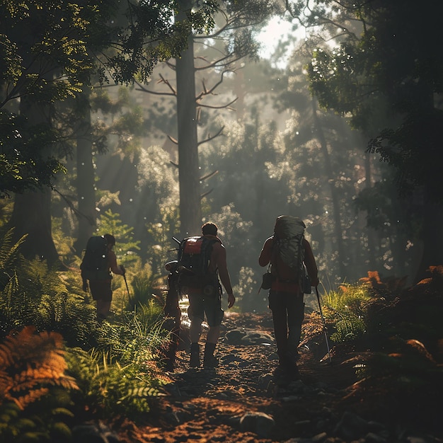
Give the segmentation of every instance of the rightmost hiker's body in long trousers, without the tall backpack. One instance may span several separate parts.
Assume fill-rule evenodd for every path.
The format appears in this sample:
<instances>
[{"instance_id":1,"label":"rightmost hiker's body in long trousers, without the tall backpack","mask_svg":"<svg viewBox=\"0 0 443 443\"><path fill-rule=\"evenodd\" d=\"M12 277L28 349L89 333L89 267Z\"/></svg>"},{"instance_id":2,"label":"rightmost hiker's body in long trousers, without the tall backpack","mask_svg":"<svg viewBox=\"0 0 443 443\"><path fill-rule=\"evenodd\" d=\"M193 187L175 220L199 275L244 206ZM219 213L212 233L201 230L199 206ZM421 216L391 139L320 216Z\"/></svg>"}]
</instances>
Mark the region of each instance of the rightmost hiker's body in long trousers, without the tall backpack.
<instances>
[{"instance_id":1,"label":"rightmost hiker's body in long trousers, without the tall backpack","mask_svg":"<svg viewBox=\"0 0 443 443\"><path fill-rule=\"evenodd\" d=\"M297 377L297 359L299 359L297 347L300 343L301 323L304 320L304 288L301 280L294 279L294 267L289 267L282 260L278 248L275 247L275 242L279 238L279 225L284 222L284 217L287 216L277 218L274 235L265 241L258 263L260 266L271 264L272 286L268 299L274 323L279 369ZM301 224L304 226L303 222ZM317 287L317 265L311 245L304 236L301 244L304 248L304 265L311 279L311 285Z\"/></svg>"}]
</instances>

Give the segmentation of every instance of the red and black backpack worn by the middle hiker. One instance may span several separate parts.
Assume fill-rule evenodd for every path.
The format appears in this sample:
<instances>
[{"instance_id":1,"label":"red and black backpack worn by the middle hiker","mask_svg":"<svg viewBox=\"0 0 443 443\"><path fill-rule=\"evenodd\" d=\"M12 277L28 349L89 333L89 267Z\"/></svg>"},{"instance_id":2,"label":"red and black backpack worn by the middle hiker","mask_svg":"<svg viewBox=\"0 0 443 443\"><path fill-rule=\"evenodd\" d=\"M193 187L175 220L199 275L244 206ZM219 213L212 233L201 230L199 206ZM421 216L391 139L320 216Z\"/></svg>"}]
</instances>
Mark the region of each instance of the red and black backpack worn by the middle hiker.
<instances>
[{"instance_id":1,"label":"red and black backpack worn by the middle hiker","mask_svg":"<svg viewBox=\"0 0 443 443\"><path fill-rule=\"evenodd\" d=\"M216 238L187 237L178 247L178 284L180 287L203 287L214 280L208 273L209 260ZM217 274L215 275L217 276Z\"/></svg>"}]
</instances>

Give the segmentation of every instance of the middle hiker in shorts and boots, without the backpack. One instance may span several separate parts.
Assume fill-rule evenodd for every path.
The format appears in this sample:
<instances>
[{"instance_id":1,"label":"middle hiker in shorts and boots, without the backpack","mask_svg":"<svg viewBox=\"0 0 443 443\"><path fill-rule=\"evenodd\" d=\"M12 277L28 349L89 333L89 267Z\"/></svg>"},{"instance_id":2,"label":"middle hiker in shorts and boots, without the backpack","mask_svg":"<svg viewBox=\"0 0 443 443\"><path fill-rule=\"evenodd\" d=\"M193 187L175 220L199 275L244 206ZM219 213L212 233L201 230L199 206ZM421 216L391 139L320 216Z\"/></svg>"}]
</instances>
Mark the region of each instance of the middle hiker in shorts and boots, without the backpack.
<instances>
[{"instance_id":1,"label":"middle hiker in shorts and boots, without the backpack","mask_svg":"<svg viewBox=\"0 0 443 443\"><path fill-rule=\"evenodd\" d=\"M213 241L212 252L209 257L208 273L212 277L212 284L209 286L205 282L197 287L189 285L187 287L189 307L188 316L190 319L190 367L200 367L200 335L202 334L202 321L205 318L209 326L205 343L205 355L203 357L203 367L214 368L217 366L217 357L214 350L219 340L220 325L224 316L222 309L222 287L221 280L226 293L228 294L228 308L234 306L236 301L232 292L231 279L226 265L226 249L222 241L217 237L217 225L205 223L202 226L202 236ZM213 290L212 290L212 289Z\"/></svg>"}]
</instances>

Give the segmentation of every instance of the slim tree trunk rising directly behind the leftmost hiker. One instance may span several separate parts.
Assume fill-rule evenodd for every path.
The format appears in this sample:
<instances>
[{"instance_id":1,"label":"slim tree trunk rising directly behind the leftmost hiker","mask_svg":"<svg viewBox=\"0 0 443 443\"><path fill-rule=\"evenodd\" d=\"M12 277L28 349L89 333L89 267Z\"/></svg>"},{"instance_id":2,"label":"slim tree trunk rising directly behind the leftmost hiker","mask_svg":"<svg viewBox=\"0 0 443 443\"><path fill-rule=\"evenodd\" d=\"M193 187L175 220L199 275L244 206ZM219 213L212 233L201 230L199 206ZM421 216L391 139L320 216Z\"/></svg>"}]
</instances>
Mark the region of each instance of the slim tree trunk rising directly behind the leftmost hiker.
<instances>
[{"instance_id":1,"label":"slim tree trunk rising directly behind the leftmost hiker","mask_svg":"<svg viewBox=\"0 0 443 443\"><path fill-rule=\"evenodd\" d=\"M96 226L96 194L94 191L94 168L91 138L91 108L89 106L89 93L79 96L78 100L84 101L77 132L77 207L79 209L79 230L74 242L76 255L81 257L81 251L86 247L88 238L93 235Z\"/></svg>"}]
</instances>

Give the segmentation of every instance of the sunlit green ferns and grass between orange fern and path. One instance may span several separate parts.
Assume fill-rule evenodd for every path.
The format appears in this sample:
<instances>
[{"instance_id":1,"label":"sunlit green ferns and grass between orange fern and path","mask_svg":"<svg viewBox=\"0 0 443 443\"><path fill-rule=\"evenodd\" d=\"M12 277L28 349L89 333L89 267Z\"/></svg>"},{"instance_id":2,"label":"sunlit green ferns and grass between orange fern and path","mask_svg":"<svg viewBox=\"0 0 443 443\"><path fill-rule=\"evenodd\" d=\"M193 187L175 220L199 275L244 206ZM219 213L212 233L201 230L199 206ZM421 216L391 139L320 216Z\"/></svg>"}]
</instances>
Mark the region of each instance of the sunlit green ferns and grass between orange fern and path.
<instances>
[{"instance_id":1,"label":"sunlit green ferns and grass between orange fern and path","mask_svg":"<svg viewBox=\"0 0 443 443\"><path fill-rule=\"evenodd\" d=\"M137 313L124 314L121 322L103 323L98 350L69 350L69 372L80 388L74 398L77 408L84 405L100 418L146 417L149 398L163 395L163 378L154 363L166 340L160 316L154 304L141 306Z\"/></svg>"}]
</instances>

